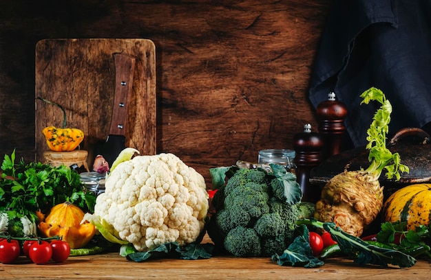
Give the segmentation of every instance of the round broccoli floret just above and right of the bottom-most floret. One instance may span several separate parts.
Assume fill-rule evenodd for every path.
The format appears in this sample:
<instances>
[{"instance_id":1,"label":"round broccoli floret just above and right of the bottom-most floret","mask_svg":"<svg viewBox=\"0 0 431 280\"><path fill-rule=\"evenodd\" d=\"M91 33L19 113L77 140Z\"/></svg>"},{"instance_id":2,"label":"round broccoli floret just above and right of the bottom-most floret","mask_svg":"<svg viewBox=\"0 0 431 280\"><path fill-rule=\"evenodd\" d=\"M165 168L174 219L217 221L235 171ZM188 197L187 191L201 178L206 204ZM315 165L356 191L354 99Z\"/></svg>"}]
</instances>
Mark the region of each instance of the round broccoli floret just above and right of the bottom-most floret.
<instances>
[{"instance_id":1,"label":"round broccoli floret just above and right of the bottom-most floret","mask_svg":"<svg viewBox=\"0 0 431 280\"><path fill-rule=\"evenodd\" d=\"M254 229L260 237L275 237L284 233L285 226L279 213L266 213L256 221Z\"/></svg>"}]
</instances>

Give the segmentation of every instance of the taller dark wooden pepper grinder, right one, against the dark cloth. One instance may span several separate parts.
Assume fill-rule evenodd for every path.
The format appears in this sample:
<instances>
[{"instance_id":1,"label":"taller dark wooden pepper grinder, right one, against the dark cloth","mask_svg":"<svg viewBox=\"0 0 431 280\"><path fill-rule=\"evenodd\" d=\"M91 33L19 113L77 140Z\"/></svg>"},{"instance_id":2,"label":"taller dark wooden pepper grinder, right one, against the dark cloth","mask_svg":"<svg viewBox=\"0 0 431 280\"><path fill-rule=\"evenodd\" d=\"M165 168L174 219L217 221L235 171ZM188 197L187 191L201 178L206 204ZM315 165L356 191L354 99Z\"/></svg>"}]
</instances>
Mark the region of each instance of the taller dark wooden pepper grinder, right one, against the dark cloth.
<instances>
[{"instance_id":1,"label":"taller dark wooden pepper grinder, right one, against the dark cloth","mask_svg":"<svg viewBox=\"0 0 431 280\"><path fill-rule=\"evenodd\" d=\"M320 102L316 108L319 121L318 131L323 137L322 161L328 156L342 152L342 141L346 126L344 119L347 108L343 102L335 100L335 93L328 94L328 100Z\"/></svg>"}]
</instances>

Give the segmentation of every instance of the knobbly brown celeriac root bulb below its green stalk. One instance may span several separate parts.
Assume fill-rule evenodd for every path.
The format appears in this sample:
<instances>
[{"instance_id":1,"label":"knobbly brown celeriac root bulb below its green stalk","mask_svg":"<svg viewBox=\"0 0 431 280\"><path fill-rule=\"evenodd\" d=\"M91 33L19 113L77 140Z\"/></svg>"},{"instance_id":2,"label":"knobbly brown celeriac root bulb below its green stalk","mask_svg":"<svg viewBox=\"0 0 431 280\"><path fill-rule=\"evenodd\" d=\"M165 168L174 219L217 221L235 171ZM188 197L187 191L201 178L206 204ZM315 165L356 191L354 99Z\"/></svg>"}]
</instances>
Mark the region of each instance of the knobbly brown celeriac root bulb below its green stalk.
<instances>
[{"instance_id":1,"label":"knobbly brown celeriac root bulb below its green stalk","mask_svg":"<svg viewBox=\"0 0 431 280\"><path fill-rule=\"evenodd\" d=\"M344 171L322 189L314 218L335 222L343 231L357 237L377 218L383 207L383 187L363 171Z\"/></svg>"}]
</instances>

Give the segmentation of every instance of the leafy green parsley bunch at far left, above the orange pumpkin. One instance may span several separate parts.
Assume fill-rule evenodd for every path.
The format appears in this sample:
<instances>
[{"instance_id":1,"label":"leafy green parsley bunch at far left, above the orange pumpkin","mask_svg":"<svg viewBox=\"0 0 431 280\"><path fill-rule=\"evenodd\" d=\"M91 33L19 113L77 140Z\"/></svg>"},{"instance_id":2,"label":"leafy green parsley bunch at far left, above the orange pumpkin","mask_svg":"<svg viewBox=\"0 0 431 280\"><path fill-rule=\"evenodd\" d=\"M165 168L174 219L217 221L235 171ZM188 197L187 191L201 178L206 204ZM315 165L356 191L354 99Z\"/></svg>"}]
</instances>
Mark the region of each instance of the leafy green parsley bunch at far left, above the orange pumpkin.
<instances>
[{"instance_id":1,"label":"leafy green parsley bunch at far left, above the orange pumpkin","mask_svg":"<svg viewBox=\"0 0 431 280\"><path fill-rule=\"evenodd\" d=\"M72 202L83 211L94 211L96 196L87 191L79 174L65 165L52 167L39 162L15 164L15 151L1 164L0 211L13 210L36 220L36 211Z\"/></svg>"}]
</instances>

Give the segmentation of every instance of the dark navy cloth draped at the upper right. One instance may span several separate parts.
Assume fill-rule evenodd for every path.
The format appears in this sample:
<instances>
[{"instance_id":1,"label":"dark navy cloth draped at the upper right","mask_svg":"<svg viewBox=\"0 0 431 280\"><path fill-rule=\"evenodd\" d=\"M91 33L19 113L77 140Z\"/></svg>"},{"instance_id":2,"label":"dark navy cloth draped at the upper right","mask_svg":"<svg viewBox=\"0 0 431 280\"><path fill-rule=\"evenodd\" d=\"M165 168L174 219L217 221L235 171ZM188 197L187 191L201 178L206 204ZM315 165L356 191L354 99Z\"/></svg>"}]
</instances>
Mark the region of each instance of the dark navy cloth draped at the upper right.
<instances>
[{"instance_id":1,"label":"dark navy cloth draped at the upper right","mask_svg":"<svg viewBox=\"0 0 431 280\"><path fill-rule=\"evenodd\" d=\"M313 106L334 91L346 104L355 146L379 104L360 105L375 86L392 104L389 135L431 121L431 0L335 0L309 87Z\"/></svg>"}]
</instances>

